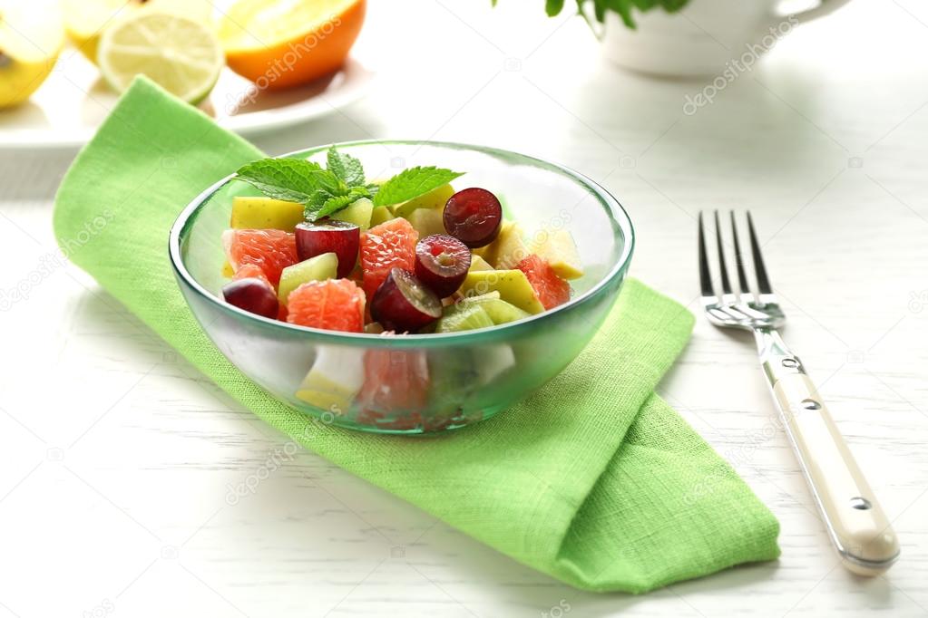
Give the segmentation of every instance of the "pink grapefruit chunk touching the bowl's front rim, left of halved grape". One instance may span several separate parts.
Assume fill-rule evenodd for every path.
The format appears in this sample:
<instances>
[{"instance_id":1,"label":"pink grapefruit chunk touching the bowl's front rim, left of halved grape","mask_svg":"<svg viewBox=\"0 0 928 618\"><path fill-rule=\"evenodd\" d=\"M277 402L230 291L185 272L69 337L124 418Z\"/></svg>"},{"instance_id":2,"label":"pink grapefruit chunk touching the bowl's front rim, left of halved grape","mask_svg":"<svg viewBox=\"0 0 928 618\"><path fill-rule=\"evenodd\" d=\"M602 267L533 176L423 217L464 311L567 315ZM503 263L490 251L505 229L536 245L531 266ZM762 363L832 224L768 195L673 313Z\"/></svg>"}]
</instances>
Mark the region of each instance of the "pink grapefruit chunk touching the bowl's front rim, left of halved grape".
<instances>
[{"instance_id":1,"label":"pink grapefruit chunk touching the bowl's front rim, left of halved grape","mask_svg":"<svg viewBox=\"0 0 928 618\"><path fill-rule=\"evenodd\" d=\"M364 292L348 279L311 281L290 292L287 322L329 331L364 330Z\"/></svg>"}]
</instances>

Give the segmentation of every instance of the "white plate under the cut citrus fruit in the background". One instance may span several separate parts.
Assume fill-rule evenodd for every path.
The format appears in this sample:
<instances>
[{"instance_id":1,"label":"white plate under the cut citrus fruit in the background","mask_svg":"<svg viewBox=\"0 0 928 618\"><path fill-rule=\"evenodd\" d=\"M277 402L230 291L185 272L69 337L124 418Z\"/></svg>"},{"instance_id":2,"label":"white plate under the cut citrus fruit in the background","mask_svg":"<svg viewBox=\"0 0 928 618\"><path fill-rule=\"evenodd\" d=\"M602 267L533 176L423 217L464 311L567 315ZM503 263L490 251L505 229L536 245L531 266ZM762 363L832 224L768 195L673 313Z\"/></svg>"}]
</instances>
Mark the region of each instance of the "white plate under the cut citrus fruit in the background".
<instances>
[{"instance_id":1,"label":"white plate under the cut citrus fruit in the background","mask_svg":"<svg viewBox=\"0 0 928 618\"><path fill-rule=\"evenodd\" d=\"M251 82L225 69L200 109L220 126L251 136L347 106L367 93L373 77L362 62L349 58L329 78L277 92L257 92ZM0 109L0 150L84 145L118 98L97 68L69 47L29 102Z\"/></svg>"}]
</instances>

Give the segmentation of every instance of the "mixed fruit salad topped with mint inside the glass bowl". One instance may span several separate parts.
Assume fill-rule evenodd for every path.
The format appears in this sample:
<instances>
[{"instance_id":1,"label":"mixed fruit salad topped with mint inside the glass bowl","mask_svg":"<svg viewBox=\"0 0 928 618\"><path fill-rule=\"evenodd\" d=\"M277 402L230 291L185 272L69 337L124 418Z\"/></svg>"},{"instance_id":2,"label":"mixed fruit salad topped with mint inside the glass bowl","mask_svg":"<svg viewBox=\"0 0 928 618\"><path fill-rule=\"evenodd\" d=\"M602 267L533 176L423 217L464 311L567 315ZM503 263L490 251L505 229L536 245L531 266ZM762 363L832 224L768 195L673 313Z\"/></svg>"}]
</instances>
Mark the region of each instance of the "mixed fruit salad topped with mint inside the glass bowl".
<instances>
[{"instance_id":1,"label":"mixed fruit salad topped with mint inside the glass bowl","mask_svg":"<svg viewBox=\"0 0 928 618\"><path fill-rule=\"evenodd\" d=\"M223 297L265 318L375 334L488 328L568 302L584 273L571 233L526 234L492 186L452 185L464 175L417 167L371 182L334 148L326 166L242 167L238 180L263 195L233 198Z\"/></svg>"}]
</instances>

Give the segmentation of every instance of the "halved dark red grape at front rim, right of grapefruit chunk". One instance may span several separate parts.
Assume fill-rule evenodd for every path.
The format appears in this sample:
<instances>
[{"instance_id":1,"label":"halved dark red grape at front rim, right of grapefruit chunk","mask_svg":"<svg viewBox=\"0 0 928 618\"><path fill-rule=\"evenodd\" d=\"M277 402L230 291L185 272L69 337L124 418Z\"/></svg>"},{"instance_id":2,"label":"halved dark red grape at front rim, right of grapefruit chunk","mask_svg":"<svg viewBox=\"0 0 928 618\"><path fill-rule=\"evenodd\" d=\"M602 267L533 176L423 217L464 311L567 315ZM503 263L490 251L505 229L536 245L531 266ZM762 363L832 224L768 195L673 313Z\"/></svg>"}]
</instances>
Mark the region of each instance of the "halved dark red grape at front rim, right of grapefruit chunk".
<instances>
[{"instance_id":1,"label":"halved dark red grape at front rim, right of grapefruit chunk","mask_svg":"<svg viewBox=\"0 0 928 618\"><path fill-rule=\"evenodd\" d=\"M370 315L387 330L415 332L442 316L442 301L416 275L394 268L371 298Z\"/></svg>"}]
</instances>

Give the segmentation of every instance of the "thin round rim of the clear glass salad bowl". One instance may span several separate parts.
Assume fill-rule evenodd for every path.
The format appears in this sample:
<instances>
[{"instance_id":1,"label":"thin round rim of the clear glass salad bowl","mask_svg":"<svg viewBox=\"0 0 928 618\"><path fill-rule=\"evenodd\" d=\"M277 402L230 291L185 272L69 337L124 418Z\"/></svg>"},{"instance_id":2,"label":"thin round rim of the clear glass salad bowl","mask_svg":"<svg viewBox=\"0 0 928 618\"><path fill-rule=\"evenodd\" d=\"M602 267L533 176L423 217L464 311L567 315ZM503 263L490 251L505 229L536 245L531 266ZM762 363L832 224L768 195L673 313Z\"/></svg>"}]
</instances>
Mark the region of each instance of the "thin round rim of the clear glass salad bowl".
<instances>
[{"instance_id":1,"label":"thin round rim of the clear glass salad bowl","mask_svg":"<svg viewBox=\"0 0 928 618\"><path fill-rule=\"evenodd\" d=\"M197 195L197 197L195 197L193 201L191 201L187 207L181 211L176 221L174 221L174 225L171 227L171 233L168 241L168 251L170 253L171 264L174 266L174 271L187 285L190 286L194 292L206 298L207 302L213 304L216 309L219 309L220 311L227 314L231 314L233 317L238 319L261 322L264 326L279 329L281 332L289 331L296 336L299 336L299 334L313 334L314 338L318 339L320 342L338 345L354 345L364 347L438 347L443 344L462 345L465 343L479 343L484 340L505 340L535 328L543 328L546 324L546 321L550 321L552 316L555 314L572 309L578 309L580 306L591 302L594 298L604 293L610 284L622 276L625 268L628 265L628 262L632 258L632 253L635 249L635 229L632 226L631 219L628 217L628 213L625 212L625 208L622 207L619 201L612 194L599 186L598 183L595 183L585 175L571 170L570 168L564 167L558 163L553 163L542 158L529 157L527 155L522 155L510 150L493 148L490 146L423 140L358 140L354 142L340 142L337 144L319 145L312 148L295 150L288 154L280 155L277 158L308 158L316 155L319 152L324 152L332 146L354 147L381 144L427 145L452 150L470 150L491 155L496 158L502 158L509 162L531 165L541 170L548 170L550 172L560 174L561 176L574 181L574 183L579 184L586 189L587 193L597 198L599 205L606 211L610 219L615 222L625 238L625 245L622 249L622 255L618 260L616 260L615 264L612 266L612 269L606 274L606 276L604 276L597 284L593 285L593 287L586 290L586 292L582 295L572 298L569 302L564 303L555 309L549 309L517 322L509 322L506 324L500 324L498 326L482 328L474 331L463 331L459 333L404 334L402 336L391 337L385 337L380 334L344 333L341 331L327 331L317 328L310 328L308 326L299 326L297 324L290 324L289 322L280 322L279 320L264 318L254 313L245 311L244 309L238 309L238 307L229 305L225 300L219 296L214 295L212 292L203 287L196 279L194 279L193 275L190 274L190 271L187 271L187 266L184 264L184 260L181 258L181 241L192 229L192 223L196 221L196 218L200 213L200 209L203 208L209 201L209 198L214 193L219 191L219 189L225 186L226 183L235 180L236 175L232 173L219 182L214 183L212 186L200 193L200 195Z\"/></svg>"}]
</instances>

